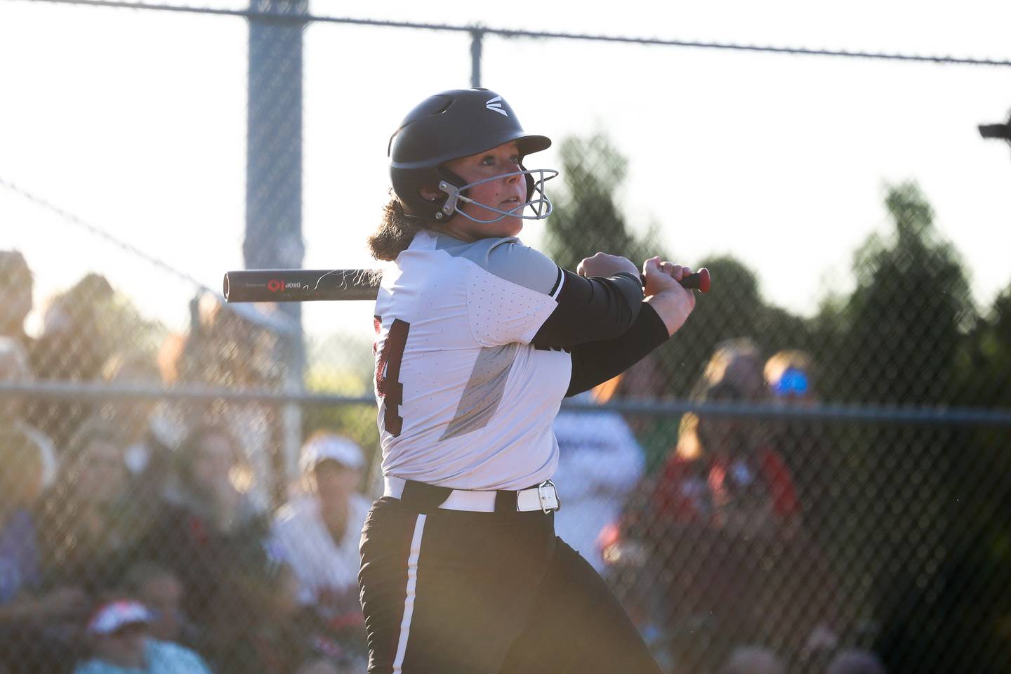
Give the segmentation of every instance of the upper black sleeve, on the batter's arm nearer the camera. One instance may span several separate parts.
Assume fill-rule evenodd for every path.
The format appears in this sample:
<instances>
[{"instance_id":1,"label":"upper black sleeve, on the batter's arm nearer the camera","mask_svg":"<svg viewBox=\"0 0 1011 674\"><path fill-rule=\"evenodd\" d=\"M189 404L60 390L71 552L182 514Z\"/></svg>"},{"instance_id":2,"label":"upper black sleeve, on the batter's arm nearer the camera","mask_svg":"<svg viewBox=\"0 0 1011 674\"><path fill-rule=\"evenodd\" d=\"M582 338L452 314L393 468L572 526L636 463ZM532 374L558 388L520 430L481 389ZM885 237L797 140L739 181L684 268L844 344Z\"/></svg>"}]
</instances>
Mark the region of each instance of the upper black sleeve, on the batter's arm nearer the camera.
<instances>
[{"instance_id":1,"label":"upper black sleeve, on the batter's arm nearer the camera","mask_svg":"<svg viewBox=\"0 0 1011 674\"><path fill-rule=\"evenodd\" d=\"M642 283L622 272L609 278L584 279L560 270L558 306L531 344L540 349L569 349L585 342L610 340L635 323L642 304Z\"/></svg>"}]
</instances>

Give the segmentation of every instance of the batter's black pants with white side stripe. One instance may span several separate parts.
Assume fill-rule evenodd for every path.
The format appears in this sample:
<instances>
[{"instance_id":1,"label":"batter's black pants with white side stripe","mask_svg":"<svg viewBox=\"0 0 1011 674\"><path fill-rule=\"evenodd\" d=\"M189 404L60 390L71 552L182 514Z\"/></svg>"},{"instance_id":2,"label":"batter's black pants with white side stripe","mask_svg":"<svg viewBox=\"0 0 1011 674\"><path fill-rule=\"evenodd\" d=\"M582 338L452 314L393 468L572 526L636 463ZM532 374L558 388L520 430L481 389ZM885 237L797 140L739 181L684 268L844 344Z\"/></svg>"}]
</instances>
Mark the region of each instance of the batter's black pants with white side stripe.
<instances>
[{"instance_id":1,"label":"batter's black pants with white side stripe","mask_svg":"<svg viewBox=\"0 0 1011 674\"><path fill-rule=\"evenodd\" d=\"M405 492L365 520L369 674L659 674L604 580L555 536L553 513L437 504Z\"/></svg>"}]
</instances>

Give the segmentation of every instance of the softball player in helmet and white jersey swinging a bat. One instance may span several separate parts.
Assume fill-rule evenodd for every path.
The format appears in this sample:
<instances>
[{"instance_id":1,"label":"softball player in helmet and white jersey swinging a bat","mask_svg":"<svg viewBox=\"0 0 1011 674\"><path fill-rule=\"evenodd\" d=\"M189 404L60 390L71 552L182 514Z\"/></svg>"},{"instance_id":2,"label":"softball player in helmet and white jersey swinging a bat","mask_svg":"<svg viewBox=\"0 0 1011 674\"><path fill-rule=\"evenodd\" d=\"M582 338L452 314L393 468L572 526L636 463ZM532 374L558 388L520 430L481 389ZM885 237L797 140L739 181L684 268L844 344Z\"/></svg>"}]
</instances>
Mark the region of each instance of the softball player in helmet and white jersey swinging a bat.
<instances>
[{"instance_id":1,"label":"softball player in helmet and white jersey swinging a bat","mask_svg":"<svg viewBox=\"0 0 1011 674\"><path fill-rule=\"evenodd\" d=\"M393 263L375 309L385 490L359 573L370 674L659 672L554 534L551 426L683 323L691 272L648 260L644 289L624 258L572 273L520 243L557 175L523 162L550 145L486 89L426 99L390 139L395 197L370 238Z\"/></svg>"}]
</instances>

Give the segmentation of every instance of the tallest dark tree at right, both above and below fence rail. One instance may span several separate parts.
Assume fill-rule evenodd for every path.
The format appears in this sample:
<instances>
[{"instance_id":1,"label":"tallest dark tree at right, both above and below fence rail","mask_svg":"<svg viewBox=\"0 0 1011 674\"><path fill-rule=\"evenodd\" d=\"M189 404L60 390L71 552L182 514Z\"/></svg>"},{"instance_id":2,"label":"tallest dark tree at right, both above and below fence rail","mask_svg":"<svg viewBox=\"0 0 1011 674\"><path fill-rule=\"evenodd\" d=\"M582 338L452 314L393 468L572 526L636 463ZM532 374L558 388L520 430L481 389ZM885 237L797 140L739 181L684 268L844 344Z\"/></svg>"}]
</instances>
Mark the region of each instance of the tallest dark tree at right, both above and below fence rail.
<instances>
[{"instance_id":1,"label":"tallest dark tree at right, both above and below fence rail","mask_svg":"<svg viewBox=\"0 0 1011 674\"><path fill-rule=\"evenodd\" d=\"M916 185L890 188L885 203L893 231L860 247L855 290L826 302L814 326L827 397L952 404L978 320L966 271ZM987 342L986 330L976 332ZM990 514L984 503L1006 490L994 492L980 472L971 429L864 423L839 426L836 440L844 488L835 507L850 513L836 552L859 551L872 562L855 571L875 577L879 648L890 671L995 671L988 664L1008 652L997 639L1006 611L983 596L1007 556L994 544L993 500ZM983 490L983 499L970 493ZM973 627L970 616L979 616ZM971 660L971 643L986 644L987 658Z\"/></svg>"}]
</instances>

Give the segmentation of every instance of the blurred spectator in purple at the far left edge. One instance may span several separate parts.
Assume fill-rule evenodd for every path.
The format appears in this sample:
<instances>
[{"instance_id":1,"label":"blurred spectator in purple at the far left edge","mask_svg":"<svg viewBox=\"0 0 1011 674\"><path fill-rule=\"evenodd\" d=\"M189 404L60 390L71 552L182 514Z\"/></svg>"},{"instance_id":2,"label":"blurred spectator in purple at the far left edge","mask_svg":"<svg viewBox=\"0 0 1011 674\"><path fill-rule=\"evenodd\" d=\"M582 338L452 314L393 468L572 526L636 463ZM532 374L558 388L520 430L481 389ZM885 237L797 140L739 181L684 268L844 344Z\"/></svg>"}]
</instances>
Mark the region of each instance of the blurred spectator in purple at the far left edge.
<instances>
[{"instance_id":1,"label":"blurred spectator in purple at the far left edge","mask_svg":"<svg viewBox=\"0 0 1011 674\"><path fill-rule=\"evenodd\" d=\"M32 508L41 493L42 461L23 432L0 430L0 670L58 672L69 639L57 625L83 615L79 588L41 591L37 525Z\"/></svg>"}]
</instances>

